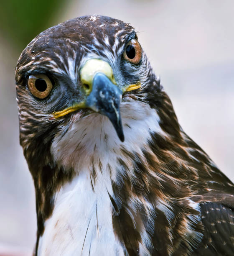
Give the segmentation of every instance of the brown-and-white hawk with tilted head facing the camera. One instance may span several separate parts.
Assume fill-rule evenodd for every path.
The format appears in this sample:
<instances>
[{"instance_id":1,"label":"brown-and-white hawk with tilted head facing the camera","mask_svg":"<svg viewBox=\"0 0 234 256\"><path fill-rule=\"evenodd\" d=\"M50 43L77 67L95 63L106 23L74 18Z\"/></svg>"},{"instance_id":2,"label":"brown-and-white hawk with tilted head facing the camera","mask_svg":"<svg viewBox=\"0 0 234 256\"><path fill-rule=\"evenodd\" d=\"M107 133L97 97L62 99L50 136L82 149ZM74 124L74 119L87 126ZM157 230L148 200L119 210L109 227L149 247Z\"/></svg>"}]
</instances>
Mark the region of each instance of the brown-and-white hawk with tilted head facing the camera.
<instances>
[{"instance_id":1,"label":"brown-and-white hawk with tilted head facing the camera","mask_svg":"<svg viewBox=\"0 0 234 256\"><path fill-rule=\"evenodd\" d=\"M234 255L234 184L183 131L132 26L83 16L17 63L35 255Z\"/></svg>"}]
</instances>

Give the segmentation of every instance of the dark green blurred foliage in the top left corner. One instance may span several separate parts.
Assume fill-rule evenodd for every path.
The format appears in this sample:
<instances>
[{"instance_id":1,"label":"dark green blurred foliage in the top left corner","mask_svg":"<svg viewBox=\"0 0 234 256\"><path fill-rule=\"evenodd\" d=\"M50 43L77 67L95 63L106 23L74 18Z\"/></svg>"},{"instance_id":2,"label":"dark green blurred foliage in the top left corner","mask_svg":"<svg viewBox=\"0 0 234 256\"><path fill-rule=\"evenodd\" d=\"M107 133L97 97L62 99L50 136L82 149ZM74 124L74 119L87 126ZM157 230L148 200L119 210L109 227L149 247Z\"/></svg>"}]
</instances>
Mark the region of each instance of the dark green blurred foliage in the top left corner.
<instances>
[{"instance_id":1,"label":"dark green blurred foliage in the top left corner","mask_svg":"<svg viewBox=\"0 0 234 256\"><path fill-rule=\"evenodd\" d=\"M66 0L3 0L0 4L0 33L22 50L53 18Z\"/></svg>"}]
</instances>

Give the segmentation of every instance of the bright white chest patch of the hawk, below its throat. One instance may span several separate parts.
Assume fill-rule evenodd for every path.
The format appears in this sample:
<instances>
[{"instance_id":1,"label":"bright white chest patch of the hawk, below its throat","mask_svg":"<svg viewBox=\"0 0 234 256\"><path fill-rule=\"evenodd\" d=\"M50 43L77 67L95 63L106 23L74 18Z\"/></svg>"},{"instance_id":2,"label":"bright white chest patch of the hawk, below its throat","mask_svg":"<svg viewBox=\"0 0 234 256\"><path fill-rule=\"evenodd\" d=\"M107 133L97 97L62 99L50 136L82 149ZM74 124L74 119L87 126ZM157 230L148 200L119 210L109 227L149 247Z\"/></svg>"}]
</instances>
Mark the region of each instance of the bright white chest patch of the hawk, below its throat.
<instances>
[{"instance_id":1,"label":"bright white chest patch of the hawk, below its throat","mask_svg":"<svg viewBox=\"0 0 234 256\"><path fill-rule=\"evenodd\" d=\"M38 255L124 255L112 227L111 183L82 172L55 197ZM108 253L107 253L108 252Z\"/></svg>"}]
</instances>

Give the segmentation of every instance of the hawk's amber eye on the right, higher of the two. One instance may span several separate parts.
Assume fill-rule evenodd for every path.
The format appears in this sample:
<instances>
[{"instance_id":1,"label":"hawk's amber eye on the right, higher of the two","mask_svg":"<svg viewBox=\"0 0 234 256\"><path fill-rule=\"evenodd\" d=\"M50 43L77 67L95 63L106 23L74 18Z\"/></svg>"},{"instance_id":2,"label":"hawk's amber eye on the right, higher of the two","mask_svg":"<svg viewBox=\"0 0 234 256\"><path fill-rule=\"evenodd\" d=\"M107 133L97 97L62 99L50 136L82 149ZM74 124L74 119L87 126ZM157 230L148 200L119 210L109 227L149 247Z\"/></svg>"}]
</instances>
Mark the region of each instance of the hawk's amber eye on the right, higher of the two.
<instances>
[{"instance_id":1,"label":"hawk's amber eye on the right, higher of the two","mask_svg":"<svg viewBox=\"0 0 234 256\"><path fill-rule=\"evenodd\" d=\"M142 49L137 40L132 39L127 44L125 51L123 53L124 59L130 61L133 64L138 64L141 60Z\"/></svg>"}]
</instances>

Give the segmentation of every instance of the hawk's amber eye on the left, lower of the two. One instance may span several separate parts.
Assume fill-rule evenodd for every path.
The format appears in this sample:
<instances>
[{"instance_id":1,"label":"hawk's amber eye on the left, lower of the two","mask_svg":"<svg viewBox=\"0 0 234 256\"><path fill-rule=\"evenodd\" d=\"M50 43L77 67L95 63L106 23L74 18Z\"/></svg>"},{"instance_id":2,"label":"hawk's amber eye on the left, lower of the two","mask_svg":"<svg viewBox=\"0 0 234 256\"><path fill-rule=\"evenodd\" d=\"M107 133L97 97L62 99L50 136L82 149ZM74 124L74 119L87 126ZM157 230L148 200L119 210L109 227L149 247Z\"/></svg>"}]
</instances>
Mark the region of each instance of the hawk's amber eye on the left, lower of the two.
<instances>
[{"instance_id":1,"label":"hawk's amber eye on the left, lower of the two","mask_svg":"<svg viewBox=\"0 0 234 256\"><path fill-rule=\"evenodd\" d=\"M28 89L35 97L44 99L52 90L51 80L45 74L35 74L28 77Z\"/></svg>"}]
</instances>

